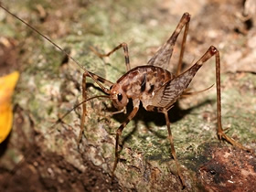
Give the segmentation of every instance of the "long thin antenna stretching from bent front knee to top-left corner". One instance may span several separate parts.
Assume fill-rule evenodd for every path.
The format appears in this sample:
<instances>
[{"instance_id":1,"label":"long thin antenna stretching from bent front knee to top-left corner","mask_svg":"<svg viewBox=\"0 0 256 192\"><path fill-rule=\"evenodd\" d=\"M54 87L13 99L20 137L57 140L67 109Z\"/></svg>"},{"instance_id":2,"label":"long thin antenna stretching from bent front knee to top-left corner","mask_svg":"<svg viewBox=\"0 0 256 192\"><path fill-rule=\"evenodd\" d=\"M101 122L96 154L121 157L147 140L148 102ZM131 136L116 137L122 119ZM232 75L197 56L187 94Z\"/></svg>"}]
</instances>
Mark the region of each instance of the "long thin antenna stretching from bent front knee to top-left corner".
<instances>
[{"instance_id":1,"label":"long thin antenna stretching from bent front knee to top-left corner","mask_svg":"<svg viewBox=\"0 0 256 192\"><path fill-rule=\"evenodd\" d=\"M25 24L27 27L31 28L32 30L34 30L38 35L40 35L41 37L44 37L48 40L48 42L50 42L53 46L55 46L56 48L59 48L60 51L62 51L65 55L67 55L69 57L69 59L72 59L76 64L78 64L78 66L80 67L80 69L83 69L84 71L87 71L89 74L90 72L86 69L84 69L80 62L77 61L76 59L74 59L73 57L71 57L69 55L69 53L64 50L63 48L60 48L56 43L54 43L50 38L46 37L44 34L42 34L40 31L37 30L37 28L30 26L26 21L22 20L21 18L19 18L18 16L14 15L13 13L11 13L8 9L6 9L3 5L1 5L0 2L0 7L2 7L8 14L10 14L11 16L16 17L16 19L18 19L19 21L21 21L23 24ZM90 75L91 76L91 75Z\"/></svg>"}]
</instances>

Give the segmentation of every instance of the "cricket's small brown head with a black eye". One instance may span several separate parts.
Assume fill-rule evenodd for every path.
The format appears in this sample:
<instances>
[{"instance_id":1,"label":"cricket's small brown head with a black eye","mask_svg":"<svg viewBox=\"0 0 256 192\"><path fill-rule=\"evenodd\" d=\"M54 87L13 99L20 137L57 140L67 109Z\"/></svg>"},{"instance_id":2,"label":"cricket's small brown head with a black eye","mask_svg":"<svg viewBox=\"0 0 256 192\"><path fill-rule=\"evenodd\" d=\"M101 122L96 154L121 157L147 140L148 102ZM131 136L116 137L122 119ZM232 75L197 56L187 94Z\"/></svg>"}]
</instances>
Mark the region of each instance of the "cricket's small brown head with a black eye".
<instances>
[{"instance_id":1,"label":"cricket's small brown head with a black eye","mask_svg":"<svg viewBox=\"0 0 256 192\"><path fill-rule=\"evenodd\" d=\"M129 99L118 83L112 85L110 89L110 96L113 106L119 111L123 110L128 104Z\"/></svg>"}]
</instances>

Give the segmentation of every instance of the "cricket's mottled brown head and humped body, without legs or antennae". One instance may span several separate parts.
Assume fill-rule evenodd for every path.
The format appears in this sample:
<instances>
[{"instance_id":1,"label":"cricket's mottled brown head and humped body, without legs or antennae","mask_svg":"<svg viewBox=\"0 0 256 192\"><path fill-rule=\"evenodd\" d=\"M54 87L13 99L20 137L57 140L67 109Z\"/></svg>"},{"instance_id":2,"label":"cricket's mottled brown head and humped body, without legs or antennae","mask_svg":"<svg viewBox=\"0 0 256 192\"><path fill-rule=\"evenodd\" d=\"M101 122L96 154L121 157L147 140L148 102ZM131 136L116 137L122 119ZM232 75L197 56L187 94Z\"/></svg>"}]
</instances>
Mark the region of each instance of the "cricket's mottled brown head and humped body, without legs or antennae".
<instances>
[{"instance_id":1,"label":"cricket's mottled brown head and humped body, without legs or antennae","mask_svg":"<svg viewBox=\"0 0 256 192\"><path fill-rule=\"evenodd\" d=\"M168 70L155 66L131 69L112 86L113 105L121 110L127 105L129 99L149 101L154 97L155 91L174 77Z\"/></svg>"}]
</instances>

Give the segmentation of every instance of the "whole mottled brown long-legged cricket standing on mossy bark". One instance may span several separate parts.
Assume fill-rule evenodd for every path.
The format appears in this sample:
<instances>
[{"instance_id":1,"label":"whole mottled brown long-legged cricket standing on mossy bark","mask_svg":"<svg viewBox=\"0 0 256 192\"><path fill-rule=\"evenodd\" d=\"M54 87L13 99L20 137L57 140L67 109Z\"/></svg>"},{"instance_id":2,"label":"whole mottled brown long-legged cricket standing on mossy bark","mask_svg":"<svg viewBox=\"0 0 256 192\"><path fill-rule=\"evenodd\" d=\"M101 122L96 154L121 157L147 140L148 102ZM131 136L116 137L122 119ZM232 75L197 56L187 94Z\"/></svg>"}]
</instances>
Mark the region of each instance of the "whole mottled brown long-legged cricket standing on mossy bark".
<instances>
[{"instance_id":1,"label":"whole mottled brown long-legged cricket standing on mossy bark","mask_svg":"<svg viewBox=\"0 0 256 192\"><path fill-rule=\"evenodd\" d=\"M2 5L0 5L3 9ZM10 13L7 9L5 9L10 15L15 16ZM31 27L25 21L15 16L22 23L27 25L27 27L32 28L37 32L41 37L46 38L51 44L55 47L59 48L63 53L65 53L69 59L72 59L75 63L77 63L81 69L83 69L78 61L73 59L65 50L60 48L57 44L51 41L48 37L45 37L36 28ZM217 116L218 116L218 129L217 133L219 139L226 140L229 144L233 144L237 147L240 147L243 150L249 150L241 144L234 141L230 138L226 133L224 133L221 125L221 99L220 99L220 59L219 59L219 50L213 46L210 46L205 54L197 60L197 62L192 65L185 72L181 73L182 67L182 59L185 50L185 44L187 39L187 32L189 27L190 15L185 13L174 33L171 37L165 42L165 44L159 48L159 50L155 53L152 59L149 59L147 65L139 66L131 69L128 47L126 43L122 43L116 48L113 48L107 54L100 54L94 48L92 50L99 57L108 57L114 51L119 48L123 48L124 51L124 59L127 72L115 83L112 83L109 80L105 80L100 76L91 73L90 71L84 69L83 78L82 78L82 98L83 101L80 102L79 105L82 105L82 115L80 120L80 135L78 139L78 144L82 138L82 133L84 130L84 122L86 117L86 101L90 101L91 99L95 99L98 97L108 97L112 100L113 106L118 110L118 112L126 112L126 106L129 101L133 101L133 111L127 116L124 122L120 125L120 127L116 131L116 143L115 143L115 160L112 168L112 177L115 171L115 168L119 161L119 140L122 136L122 132L124 127L129 123L136 113L139 110L139 105L142 102L144 109L149 112L161 112L165 115L165 122L168 130L168 139L171 146L171 153L175 159L177 174L181 180L182 186L185 187L185 180L181 174L180 167L176 158L176 150L174 146L173 136L170 129L170 121L168 117L168 111L173 107L174 103L183 95L187 94L187 87L193 77L196 75L197 70L201 68L201 66L211 57L215 56L216 58L216 84L217 84ZM169 65L169 61L172 57L173 49L176 44L176 38L179 36L183 27L185 27L184 36L182 39L182 47L180 51L180 56L178 60L178 67L176 74L171 73L167 70L167 66ZM106 93L105 96L94 96L91 98L87 98L86 91L86 78L90 77L94 80L101 88L101 91ZM108 86L106 88L102 84ZM77 106L76 106L77 107ZM115 112L115 113L118 113ZM67 112L64 116L66 116L69 112ZM63 117L64 117L63 116ZM62 118L63 118L62 117ZM58 122L59 123L59 122Z\"/></svg>"}]
</instances>

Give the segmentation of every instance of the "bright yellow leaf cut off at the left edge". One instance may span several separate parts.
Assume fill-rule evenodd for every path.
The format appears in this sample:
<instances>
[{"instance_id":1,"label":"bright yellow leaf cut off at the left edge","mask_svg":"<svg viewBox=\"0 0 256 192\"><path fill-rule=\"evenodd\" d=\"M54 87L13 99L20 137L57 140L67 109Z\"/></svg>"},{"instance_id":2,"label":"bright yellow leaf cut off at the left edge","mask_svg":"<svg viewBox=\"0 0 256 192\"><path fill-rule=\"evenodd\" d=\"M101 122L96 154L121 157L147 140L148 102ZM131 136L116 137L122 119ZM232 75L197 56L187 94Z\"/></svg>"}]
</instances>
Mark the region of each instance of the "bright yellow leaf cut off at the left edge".
<instances>
[{"instance_id":1,"label":"bright yellow leaf cut off at the left edge","mask_svg":"<svg viewBox=\"0 0 256 192\"><path fill-rule=\"evenodd\" d=\"M0 144L10 133L13 123L12 95L19 73L17 71L0 78Z\"/></svg>"}]
</instances>

